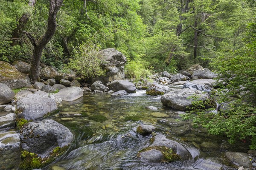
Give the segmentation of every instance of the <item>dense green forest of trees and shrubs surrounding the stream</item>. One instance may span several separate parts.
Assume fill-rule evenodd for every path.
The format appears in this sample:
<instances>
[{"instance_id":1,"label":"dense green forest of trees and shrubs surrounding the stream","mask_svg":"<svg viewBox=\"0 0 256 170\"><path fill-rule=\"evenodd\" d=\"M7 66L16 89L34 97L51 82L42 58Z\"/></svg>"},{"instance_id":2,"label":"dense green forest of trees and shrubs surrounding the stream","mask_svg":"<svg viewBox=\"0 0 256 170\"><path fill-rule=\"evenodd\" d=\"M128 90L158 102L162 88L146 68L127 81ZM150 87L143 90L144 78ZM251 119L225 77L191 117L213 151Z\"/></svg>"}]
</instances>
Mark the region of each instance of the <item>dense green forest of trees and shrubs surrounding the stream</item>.
<instances>
[{"instance_id":1,"label":"dense green forest of trees and shrubs surrounding the stream","mask_svg":"<svg viewBox=\"0 0 256 170\"><path fill-rule=\"evenodd\" d=\"M216 91L219 103L227 96L239 100L227 111L205 114L198 109L197 116L185 119L211 134L228 136L230 142L247 139L256 149L255 0L53 2L56 28L48 30L54 15L49 0L0 1L1 61L32 62L34 48L42 45L41 63L63 72L71 69L86 79L104 74L99 51L116 48L127 57L126 77L134 82L202 65L227 82L221 86L225 93ZM48 42L43 42L47 34Z\"/></svg>"}]
</instances>

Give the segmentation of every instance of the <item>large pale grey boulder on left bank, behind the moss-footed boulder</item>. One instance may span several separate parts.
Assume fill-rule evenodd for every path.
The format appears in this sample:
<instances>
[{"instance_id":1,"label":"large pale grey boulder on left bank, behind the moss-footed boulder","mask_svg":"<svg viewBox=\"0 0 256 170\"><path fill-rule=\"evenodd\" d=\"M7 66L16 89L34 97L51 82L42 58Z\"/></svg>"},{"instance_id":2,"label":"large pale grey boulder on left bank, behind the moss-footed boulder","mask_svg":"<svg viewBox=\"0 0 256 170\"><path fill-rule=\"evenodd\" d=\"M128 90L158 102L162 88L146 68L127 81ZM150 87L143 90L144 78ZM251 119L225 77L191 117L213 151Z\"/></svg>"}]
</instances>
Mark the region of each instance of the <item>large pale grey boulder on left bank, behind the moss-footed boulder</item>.
<instances>
[{"instance_id":1,"label":"large pale grey boulder on left bank, behind the moss-footed boulder","mask_svg":"<svg viewBox=\"0 0 256 170\"><path fill-rule=\"evenodd\" d=\"M16 110L19 120L36 120L57 109L53 99L47 95L29 94L17 100Z\"/></svg>"}]
</instances>

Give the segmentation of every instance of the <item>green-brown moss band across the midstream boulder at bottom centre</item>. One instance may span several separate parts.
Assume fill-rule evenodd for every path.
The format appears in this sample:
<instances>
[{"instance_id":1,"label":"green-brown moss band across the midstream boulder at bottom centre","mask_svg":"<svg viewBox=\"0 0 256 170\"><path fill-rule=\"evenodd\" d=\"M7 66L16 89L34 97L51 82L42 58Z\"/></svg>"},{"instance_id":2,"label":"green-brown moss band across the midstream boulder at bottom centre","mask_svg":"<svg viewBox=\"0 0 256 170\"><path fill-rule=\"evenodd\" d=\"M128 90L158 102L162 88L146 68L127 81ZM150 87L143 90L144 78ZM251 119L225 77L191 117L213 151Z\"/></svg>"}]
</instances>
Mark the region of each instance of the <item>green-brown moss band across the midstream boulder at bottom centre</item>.
<instances>
[{"instance_id":1,"label":"green-brown moss band across the midstream boulder at bottom centre","mask_svg":"<svg viewBox=\"0 0 256 170\"><path fill-rule=\"evenodd\" d=\"M153 138L152 138L153 139ZM146 147L137 153L137 157L140 157L140 153L156 149L159 150L163 154L163 159L161 162L173 162L173 161L179 161L180 156L173 152L172 148L166 147L166 146L153 146L153 147Z\"/></svg>"}]
</instances>

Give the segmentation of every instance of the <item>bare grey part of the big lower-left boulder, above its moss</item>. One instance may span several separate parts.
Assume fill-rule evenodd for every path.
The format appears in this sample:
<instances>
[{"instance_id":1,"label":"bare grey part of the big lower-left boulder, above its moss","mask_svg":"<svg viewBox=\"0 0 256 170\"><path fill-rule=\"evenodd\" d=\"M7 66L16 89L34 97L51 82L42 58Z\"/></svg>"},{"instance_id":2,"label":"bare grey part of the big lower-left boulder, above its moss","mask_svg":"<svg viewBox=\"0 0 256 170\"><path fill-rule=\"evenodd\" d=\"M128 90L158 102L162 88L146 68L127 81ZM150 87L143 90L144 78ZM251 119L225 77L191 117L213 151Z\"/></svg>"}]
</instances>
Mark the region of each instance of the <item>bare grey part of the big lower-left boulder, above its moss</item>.
<instances>
[{"instance_id":1,"label":"bare grey part of the big lower-left boulder, above its moss","mask_svg":"<svg viewBox=\"0 0 256 170\"><path fill-rule=\"evenodd\" d=\"M49 156L55 147L64 147L73 140L67 127L52 119L29 122L20 131L20 147L41 158Z\"/></svg>"}]
</instances>

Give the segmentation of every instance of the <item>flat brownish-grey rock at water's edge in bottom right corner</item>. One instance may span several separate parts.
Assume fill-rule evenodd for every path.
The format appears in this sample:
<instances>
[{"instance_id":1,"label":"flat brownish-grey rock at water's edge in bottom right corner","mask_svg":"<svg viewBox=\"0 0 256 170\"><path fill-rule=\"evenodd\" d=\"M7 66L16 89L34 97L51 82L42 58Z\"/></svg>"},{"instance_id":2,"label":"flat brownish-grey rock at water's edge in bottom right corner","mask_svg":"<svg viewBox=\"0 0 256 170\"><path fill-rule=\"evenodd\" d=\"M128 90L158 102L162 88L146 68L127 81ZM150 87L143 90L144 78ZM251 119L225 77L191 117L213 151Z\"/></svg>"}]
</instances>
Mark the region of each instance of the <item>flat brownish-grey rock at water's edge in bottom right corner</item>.
<instances>
[{"instance_id":1,"label":"flat brownish-grey rock at water's edge in bottom right corner","mask_svg":"<svg viewBox=\"0 0 256 170\"><path fill-rule=\"evenodd\" d=\"M247 153L241 153L241 152L226 152L225 156L227 159L229 159L233 164L236 164L238 166L243 166L244 168L251 168L252 163L250 162L250 159L248 157Z\"/></svg>"}]
</instances>

